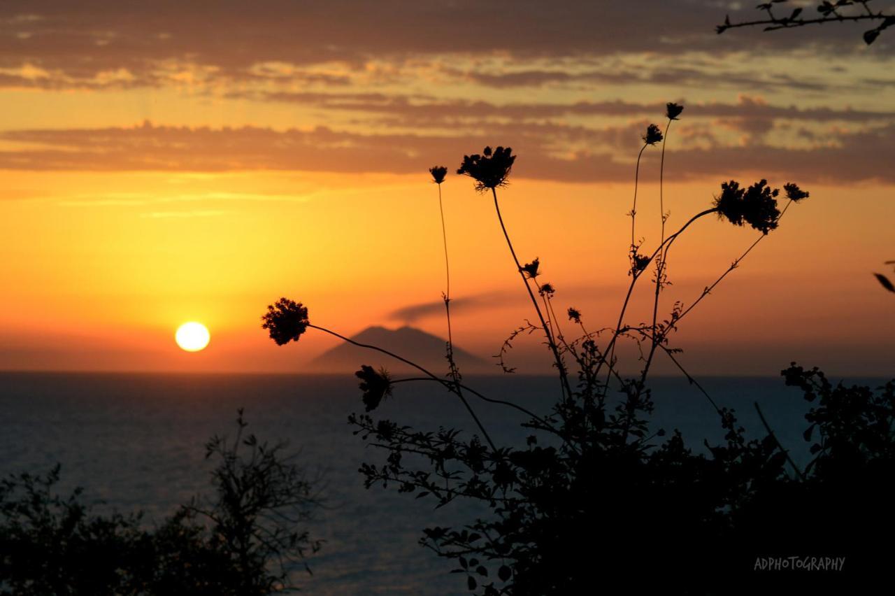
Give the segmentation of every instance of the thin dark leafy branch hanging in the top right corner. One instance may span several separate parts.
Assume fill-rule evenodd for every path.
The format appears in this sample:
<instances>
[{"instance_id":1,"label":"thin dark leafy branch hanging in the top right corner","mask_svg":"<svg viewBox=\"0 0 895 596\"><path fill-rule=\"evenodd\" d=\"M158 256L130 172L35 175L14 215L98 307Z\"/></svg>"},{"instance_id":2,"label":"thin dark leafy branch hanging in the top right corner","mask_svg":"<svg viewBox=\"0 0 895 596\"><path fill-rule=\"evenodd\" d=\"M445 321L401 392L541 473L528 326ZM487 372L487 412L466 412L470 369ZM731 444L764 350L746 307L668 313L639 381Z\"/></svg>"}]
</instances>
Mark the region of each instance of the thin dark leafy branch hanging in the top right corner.
<instances>
[{"instance_id":1,"label":"thin dark leafy branch hanging in the top right corner","mask_svg":"<svg viewBox=\"0 0 895 596\"><path fill-rule=\"evenodd\" d=\"M788 4L788 0L771 0L771 2L764 2L756 6L765 14L763 18L754 21L730 22L730 17L727 16L715 30L720 34L729 29L763 26L765 31L773 31L794 29L806 25L823 25L828 22L866 21L876 25L873 29L864 32L864 42L869 46L876 41L876 38L880 37L882 31L895 25L895 13L886 13L882 10L874 11L870 7L870 2L871 0L823 0L814 6L819 16L807 17L801 6L797 6L790 12L784 6L784 4ZM785 14L781 14L780 10L785 11Z\"/></svg>"}]
</instances>

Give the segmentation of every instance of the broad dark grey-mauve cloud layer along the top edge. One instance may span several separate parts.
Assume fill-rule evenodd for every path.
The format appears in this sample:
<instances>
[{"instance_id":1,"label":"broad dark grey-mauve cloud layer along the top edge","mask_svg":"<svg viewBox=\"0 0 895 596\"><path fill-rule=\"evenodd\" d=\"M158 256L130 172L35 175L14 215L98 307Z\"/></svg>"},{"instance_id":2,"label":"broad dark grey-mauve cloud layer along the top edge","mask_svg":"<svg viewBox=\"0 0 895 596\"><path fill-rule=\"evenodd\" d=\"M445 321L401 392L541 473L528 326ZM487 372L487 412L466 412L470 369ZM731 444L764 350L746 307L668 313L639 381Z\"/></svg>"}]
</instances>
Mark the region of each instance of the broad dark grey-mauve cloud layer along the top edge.
<instances>
[{"instance_id":1,"label":"broad dark grey-mauve cloud layer along the top edge","mask_svg":"<svg viewBox=\"0 0 895 596\"><path fill-rule=\"evenodd\" d=\"M785 35L731 31L717 36L714 25L726 12L720 4L710 0L639 0L636 4L591 0L258 0L251 4L242 0L9 0L4 2L5 17L0 20L0 67L32 64L52 73L49 79L32 80L40 85L58 81L90 85L99 73L121 69L129 75L126 84L158 85L166 80L164 71L172 63L209 67L216 77L244 78L259 76L251 67L267 62L362 65L376 58L403 60L424 55L582 60L624 53L707 51L718 55L805 46L818 38L814 32L805 35L801 30ZM823 39L832 44L859 35L847 26L823 33ZM884 49L884 42L878 43ZM839 46L839 51L851 48ZM668 76L679 79L683 71L678 71Z\"/></svg>"}]
</instances>

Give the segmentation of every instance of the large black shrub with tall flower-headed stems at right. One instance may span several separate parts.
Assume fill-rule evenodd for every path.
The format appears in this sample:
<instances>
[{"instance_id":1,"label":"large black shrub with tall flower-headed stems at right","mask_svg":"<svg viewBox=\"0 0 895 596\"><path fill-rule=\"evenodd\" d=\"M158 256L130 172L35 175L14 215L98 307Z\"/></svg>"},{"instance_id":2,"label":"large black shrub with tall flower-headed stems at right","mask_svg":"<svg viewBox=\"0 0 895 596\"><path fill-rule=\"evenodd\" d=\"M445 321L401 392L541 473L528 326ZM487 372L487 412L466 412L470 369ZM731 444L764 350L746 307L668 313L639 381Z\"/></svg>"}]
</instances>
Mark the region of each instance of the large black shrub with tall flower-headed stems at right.
<instances>
[{"instance_id":1,"label":"large black shrub with tall flower-headed stems at right","mask_svg":"<svg viewBox=\"0 0 895 596\"><path fill-rule=\"evenodd\" d=\"M812 447L816 457L802 470L780 445L757 404L766 435L747 440L737 414L717 406L686 372L678 359L680 350L670 345L671 334L695 306L780 225L793 203L808 198L808 192L794 183L785 184L781 193L765 180L746 187L725 182L712 207L666 235L669 214L660 174L661 238L652 251L644 251L644 241L636 236L640 158L659 142L664 153L669 125L682 111L682 106L669 104L664 133L651 124L643 136L635 199L628 214L630 283L616 324L599 331L589 331L582 311L569 307L567 320L575 332L567 335L567 328L564 333L553 304L557 289L539 281L541 260L523 265L516 255L498 200L498 189L507 184L516 161L511 149L486 148L482 154L465 156L458 170L473 177L476 191L492 194L514 266L537 315L535 323L526 321L507 338L499 364L512 372L503 358L507 346L516 336L542 334L560 380L549 411L533 413L512 399L485 396L465 385L450 360L449 343L448 371L442 376L377 346L307 325L387 353L424 375L395 379L385 370L362 365L357 376L362 379L366 412L351 414L349 423L355 434L384 452L378 463L361 466L367 488L396 486L400 492L429 499L435 507L464 499L487 509L487 515L462 527L427 528L421 539L423 546L455 562L454 572L465 577L470 592L542 596L604 588L729 594L754 592L769 583L816 590L865 580L874 569L884 568L874 568L879 558L865 539L869 527L882 528L882 535L895 529L882 498L888 494L883 488L893 455L892 384L874 395L867 387L833 388L816 370L805 373L795 365L785 370L788 383L800 387L806 399L821 396L819 407L807 416L812 426L805 434L806 440L812 434L822 437L820 447ZM778 199L786 200L782 209ZM671 248L686 230L710 215L735 226L748 224L760 234L693 301L675 302L662 319ZM651 269L652 320L627 322L635 285ZM266 328L274 339L282 335L278 328ZM616 355L623 341L641 348L641 370L633 378L622 375ZM686 375L718 416L724 440L703 441L706 453L695 453L677 430L669 436L664 430L650 430L649 373L657 354L668 357ZM416 430L373 417L383 396L400 400L397 384L419 380L439 383L456 395L478 431L470 437L456 429ZM528 417L524 427L530 433L526 444L496 445L471 407L472 398L524 413ZM851 491L856 486L867 492ZM802 515L803 511L810 515ZM856 515L872 525L851 524ZM774 574L760 565L763 558L793 556L807 558L806 565L815 570L823 569L814 575ZM843 557L848 566L841 562Z\"/></svg>"}]
</instances>

